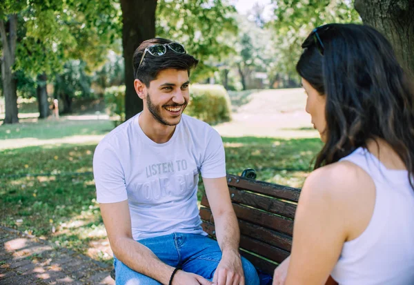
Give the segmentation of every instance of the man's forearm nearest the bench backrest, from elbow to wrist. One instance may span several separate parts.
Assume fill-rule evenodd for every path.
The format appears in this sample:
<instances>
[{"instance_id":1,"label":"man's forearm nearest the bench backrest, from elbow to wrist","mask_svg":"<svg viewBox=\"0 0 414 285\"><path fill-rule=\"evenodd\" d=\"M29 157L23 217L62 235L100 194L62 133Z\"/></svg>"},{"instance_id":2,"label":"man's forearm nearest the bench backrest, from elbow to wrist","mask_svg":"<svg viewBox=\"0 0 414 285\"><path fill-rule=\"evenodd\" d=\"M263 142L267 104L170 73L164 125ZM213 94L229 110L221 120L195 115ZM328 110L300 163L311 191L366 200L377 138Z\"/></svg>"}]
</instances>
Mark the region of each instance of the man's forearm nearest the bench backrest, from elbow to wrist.
<instances>
[{"instance_id":1,"label":"man's forearm nearest the bench backrest, from elbow to wrist","mask_svg":"<svg viewBox=\"0 0 414 285\"><path fill-rule=\"evenodd\" d=\"M239 251L240 230L237 217L233 211L221 213L215 219L215 231L217 242L222 253L227 250Z\"/></svg>"}]
</instances>

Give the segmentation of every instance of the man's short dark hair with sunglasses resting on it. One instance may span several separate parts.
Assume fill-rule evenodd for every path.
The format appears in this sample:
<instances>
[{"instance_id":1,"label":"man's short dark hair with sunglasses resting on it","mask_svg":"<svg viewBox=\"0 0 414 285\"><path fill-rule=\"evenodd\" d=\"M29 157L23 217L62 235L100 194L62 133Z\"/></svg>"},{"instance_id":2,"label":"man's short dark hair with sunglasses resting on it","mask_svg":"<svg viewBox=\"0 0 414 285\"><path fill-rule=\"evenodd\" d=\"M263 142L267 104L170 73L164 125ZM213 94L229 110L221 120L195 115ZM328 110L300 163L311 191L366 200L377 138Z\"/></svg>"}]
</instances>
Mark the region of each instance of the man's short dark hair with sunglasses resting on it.
<instances>
[{"instance_id":1,"label":"man's short dark hair with sunglasses resting on it","mask_svg":"<svg viewBox=\"0 0 414 285\"><path fill-rule=\"evenodd\" d=\"M187 70L188 75L190 75L190 70L197 66L198 60L187 53L179 54L177 52L173 52L170 48L167 48L166 54L161 55L160 57L154 57L149 52L146 52L144 60L141 62L141 66L139 66L144 50L148 48L148 46L152 46L157 43L164 44L171 42L172 41L169 39L155 38L143 41L139 45L137 50L135 50L134 57L132 59L135 79L141 80L141 82L149 87L150 81L156 79L161 70Z\"/></svg>"}]
</instances>

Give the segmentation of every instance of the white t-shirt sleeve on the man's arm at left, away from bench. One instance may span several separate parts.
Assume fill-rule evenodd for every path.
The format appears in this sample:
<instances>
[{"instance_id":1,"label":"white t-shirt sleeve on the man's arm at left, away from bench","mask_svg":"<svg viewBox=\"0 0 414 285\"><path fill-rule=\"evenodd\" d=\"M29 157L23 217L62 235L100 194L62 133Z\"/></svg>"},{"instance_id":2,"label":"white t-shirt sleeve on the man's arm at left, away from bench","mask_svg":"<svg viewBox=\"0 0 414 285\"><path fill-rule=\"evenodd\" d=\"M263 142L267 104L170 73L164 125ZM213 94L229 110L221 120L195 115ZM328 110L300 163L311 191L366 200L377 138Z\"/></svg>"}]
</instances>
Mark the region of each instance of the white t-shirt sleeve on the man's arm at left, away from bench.
<instances>
[{"instance_id":1,"label":"white t-shirt sleeve on the man's arm at left, away from bench","mask_svg":"<svg viewBox=\"0 0 414 285\"><path fill-rule=\"evenodd\" d=\"M128 199L125 175L115 149L101 142L93 155L93 175L98 203L116 203Z\"/></svg>"}]
</instances>

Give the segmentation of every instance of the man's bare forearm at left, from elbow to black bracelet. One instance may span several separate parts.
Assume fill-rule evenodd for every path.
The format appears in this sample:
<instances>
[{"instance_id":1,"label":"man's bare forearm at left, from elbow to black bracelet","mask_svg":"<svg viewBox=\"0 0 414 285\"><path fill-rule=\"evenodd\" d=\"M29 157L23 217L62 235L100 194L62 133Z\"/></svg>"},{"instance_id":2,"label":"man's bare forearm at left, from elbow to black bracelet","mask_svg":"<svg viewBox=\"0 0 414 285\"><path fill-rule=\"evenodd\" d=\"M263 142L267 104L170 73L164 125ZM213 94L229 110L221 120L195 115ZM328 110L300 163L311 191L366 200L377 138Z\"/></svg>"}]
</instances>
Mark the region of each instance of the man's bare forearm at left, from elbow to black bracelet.
<instances>
[{"instance_id":1,"label":"man's bare forearm at left, from elbow to black bracelet","mask_svg":"<svg viewBox=\"0 0 414 285\"><path fill-rule=\"evenodd\" d=\"M161 262L149 248L128 237L118 239L116 243L112 250L119 261L161 284L168 284L174 268Z\"/></svg>"}]
</instances>

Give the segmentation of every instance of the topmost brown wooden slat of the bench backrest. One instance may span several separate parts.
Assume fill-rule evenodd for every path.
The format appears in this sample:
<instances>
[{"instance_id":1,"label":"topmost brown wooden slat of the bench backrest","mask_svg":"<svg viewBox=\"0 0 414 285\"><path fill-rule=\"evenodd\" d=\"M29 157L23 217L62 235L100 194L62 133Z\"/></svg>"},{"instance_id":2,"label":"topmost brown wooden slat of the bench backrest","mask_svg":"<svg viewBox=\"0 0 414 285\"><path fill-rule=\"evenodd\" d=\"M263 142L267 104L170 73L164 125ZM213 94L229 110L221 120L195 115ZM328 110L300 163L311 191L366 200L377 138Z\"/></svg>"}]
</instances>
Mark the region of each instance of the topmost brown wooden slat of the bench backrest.
<instances>
[{"instance_id":1,"label":"topmost brown wooden slat of the bench backrest","mask_svg":"<svg viewBox=\"0 0 414 285\"><path fill-rule=\"evenodd\" d=\"M260 193L279 199L285 199L291 202L297 202L299 200L300 190L297 188L279 184L271 184L268 182L253 179L246 179L231 174L227 175L227 184L228 186L242 188L255 193Z\"/></svg>"}]
</instances>

